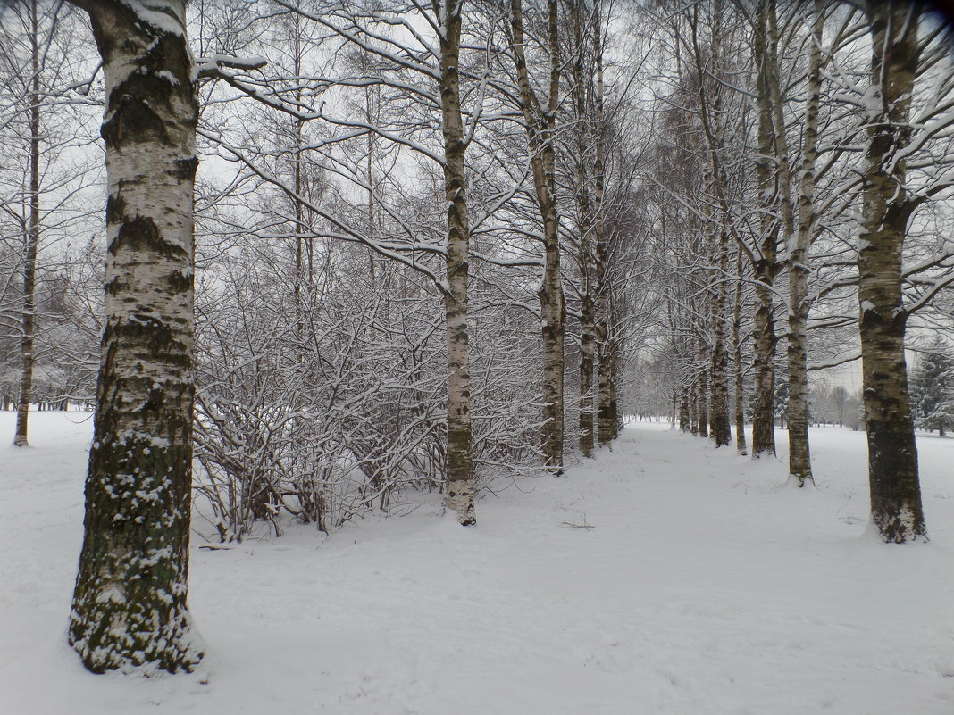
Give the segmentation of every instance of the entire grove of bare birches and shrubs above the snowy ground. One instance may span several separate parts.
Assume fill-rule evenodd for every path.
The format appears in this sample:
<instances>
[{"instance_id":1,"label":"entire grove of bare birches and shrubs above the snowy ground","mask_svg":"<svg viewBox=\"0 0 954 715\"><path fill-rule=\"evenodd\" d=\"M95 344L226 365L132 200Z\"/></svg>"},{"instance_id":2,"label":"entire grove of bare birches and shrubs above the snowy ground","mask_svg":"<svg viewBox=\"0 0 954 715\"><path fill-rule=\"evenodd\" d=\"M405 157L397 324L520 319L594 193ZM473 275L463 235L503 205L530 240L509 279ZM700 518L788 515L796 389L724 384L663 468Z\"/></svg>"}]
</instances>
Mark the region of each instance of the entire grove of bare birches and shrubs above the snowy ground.
<instances>
[{"instance_id":1,"label":"entire grove of bare birches and shrubs above the snowy ground","mask_svg":"<svg viewBox=\"0 0 954 715\"><path fill-rule=\"evenodd\" d=\"M0 409L21 446L31 410L95 410L69 627L94 672L199 663L191 519L330 533L433 493L476 526L633 419L786 455L793 500L812 425L864 429L879 538L927 540L954 48L923 4L0 20Z\"/></svg>"}]
</instances>

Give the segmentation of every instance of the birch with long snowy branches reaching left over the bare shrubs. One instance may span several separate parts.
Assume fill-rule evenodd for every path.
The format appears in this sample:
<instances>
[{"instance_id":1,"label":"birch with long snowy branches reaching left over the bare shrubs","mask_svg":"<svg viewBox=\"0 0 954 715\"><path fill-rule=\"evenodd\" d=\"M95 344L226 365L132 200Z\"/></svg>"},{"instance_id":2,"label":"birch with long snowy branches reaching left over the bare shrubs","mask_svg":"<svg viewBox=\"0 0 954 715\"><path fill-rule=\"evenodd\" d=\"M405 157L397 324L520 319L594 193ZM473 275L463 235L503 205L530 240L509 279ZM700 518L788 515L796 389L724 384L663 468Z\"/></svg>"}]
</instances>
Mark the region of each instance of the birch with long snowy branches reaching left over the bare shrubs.
<instances>
[{"instance_id":1,"label":"birch with long snowy branches reaching left over the bare shrubs","mask_svg":"<svg viewBox=\"0 0 954 715\"><path fill-rule=\"evenodd\" d=\"M477 130L483 108L478 106L465 112L461 104L461 76L465 73L461 69L465 2L447 0L427 6L403 3L379 6L338 1L318 4L280 2L280 6L316 23L327 38L372 58L374 70L366 72L358 68L358 73L337 76L331 72L317 72L310 76L308 96L298 98L295 92L301 78L297 76L263 79L248 73L223 72L219 77L275 111L301 121L321 119L337 130L337 134L322 137L311 149L329 157L329 164L336 173L365 192L375 192L376 187L372 184L379 183L368 181L366 167L330 155L336 146L352 138L366 139L368 134L375 134L383 142L416 153L430 166L437 167L444 179L446 214L443 239L419 240L406 223L401 226L406 235L405 242L393 236L378 239L368 235L366 213L360 222L334 215L327 207L297 194L292 182L282 181L258 165L254 157L241 147L230 145L227 137L220 133L208 133L207 136L251 173L327 223L321 235L362 243L378 255L396 260L426 276L439 291L445 303L447 346L446 507L457 514L462 524L472 524L475 522L474 467L467 332L471 227L465 170L467 148ZM419 21L421 26L417 27L415 23ZM388 34L389 29L395 28L395 33ZM471 75L468 79L473 81L474 78ZM406 122L404 116L396 117L395 126L388 127L326 111L323 103L311 104L314 97L323 98L326 92L342 87L392 90L404 99L406 111L412 115L422 112L427 119ZM482 92L486 89L486 85L481 87ZM480 96L475 97L478 105L480 101ZM437 118L437 122L432 118ZM434 141L435 138L438 142ZM374 203L374 210L381 210L384 206L382 196L379 195ZM393 213L390 217L399 218ZM435 269L433 258L443 259L444 265Z\"/></svg>"}]
</instances>

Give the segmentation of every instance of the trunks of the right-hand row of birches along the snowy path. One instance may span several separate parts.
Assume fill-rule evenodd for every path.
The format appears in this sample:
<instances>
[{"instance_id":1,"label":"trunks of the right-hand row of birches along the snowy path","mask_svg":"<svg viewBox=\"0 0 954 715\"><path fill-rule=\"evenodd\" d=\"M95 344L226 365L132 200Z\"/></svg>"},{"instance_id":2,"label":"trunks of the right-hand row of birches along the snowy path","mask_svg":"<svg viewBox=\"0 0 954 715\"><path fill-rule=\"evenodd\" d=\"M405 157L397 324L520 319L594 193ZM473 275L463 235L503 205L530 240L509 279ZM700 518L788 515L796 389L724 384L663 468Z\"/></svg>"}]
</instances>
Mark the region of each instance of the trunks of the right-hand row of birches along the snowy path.
<instances>
[{"instance_id":1,"label":"trunks of the right-hand row of birches along the snowy path","mask_svg":"<svg viewBox=\"0 0 954 715\"><path fill-rule=\"evenodd\" d=\"M811 12L811 45L808 51L803 135L800 141L798 187L783 116L784 97L778 69L779 30L773 0L757 6L754 56L757 65L757 184L762 200L761 222L755 250L751 252L756 309L753 316L756 381L753 414L753 457L775 453L775 353L774 283L779 272L778 239L784 236L788 270L787 367L789 474L798 486L813 481L808 440L807 318L811 309L808 291L809 249L818 229L815 215L816 172L819 157L819 105L824 4ZM869 483L872 521L881 539L889 542L926 540L917 448L909 404L904 335L909 310L902 294L902 250L914 211L930 194L913 194L907 184L905 153L915 144L909 110L923 46L919 25L923 7L918 3L886 2L865 9L872 34L871 78L880 111L865 105L864 129L868 136L866 166L862 174L862 218L858 253L860 337L863 402L869 450ZM697 55L701 54L696 52ZM698 61L698 59L697 59ZM699 73L701 75L701 67ZM704 97L702 99L704 105ZM706 108L702 107L703 115ZM703 120L703 123L704 120ZM706 128L710 137L715 133ZM715 155L715 153L714 153ZM715 174L714 174L715 178ZM934 192L949 185L938 182ZM794 199L794 200L793 200ZM737 273L741 275L740 266ZM736 295L736 297L738 297ZM923 299L924 300L924 299ZM922 300L922 302L923 302ZM716 296L717 301L717 296ZM736 299L736 303L738 300ZM737 309L736 309L737 310ZM716 309L714 319L720 316ZM719 332L713 333L716 348ZM736 346L738 340L736 338ZM701 397L705 379L713 384L713 406L718 402L718 350L712 355L709 376L697 374L686 395L689 428L706 434L706 404ZM696 353L696 364L700 354ZM736 371L740 356L736 350ZM738 402L742 376L736 372L736 429L743 422ZM716 416L713 430L719 431ZM737 445L745 449L744 442Z\"/></svg>"}]
</instances>

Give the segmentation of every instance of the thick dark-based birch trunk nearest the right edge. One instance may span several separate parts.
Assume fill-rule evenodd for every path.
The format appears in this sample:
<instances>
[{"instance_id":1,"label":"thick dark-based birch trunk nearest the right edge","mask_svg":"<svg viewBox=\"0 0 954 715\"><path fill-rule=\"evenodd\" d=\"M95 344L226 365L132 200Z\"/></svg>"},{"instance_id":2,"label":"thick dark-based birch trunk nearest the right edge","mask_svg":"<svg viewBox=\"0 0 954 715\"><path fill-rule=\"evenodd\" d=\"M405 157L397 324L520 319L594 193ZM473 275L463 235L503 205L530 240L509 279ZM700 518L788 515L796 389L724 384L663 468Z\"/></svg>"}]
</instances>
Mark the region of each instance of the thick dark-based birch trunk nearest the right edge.
<instances>
[{"instance_id":1,"label":"thick dark-based birch trunk nearest the right edge","mask_svg":"<svg viewBox=\"0 0 954 715\"><path fill-rule=\"evenodd\" d=\"M902 247L916 205L905 186L903 152L912 132L908 110L920 54L920 8L895 0L873 3L868 11L880 108L867 117L858 297L871 516L884 541L926 541L901 290Z\"/></svg>"}]
</instances>

